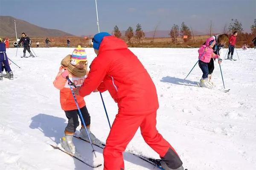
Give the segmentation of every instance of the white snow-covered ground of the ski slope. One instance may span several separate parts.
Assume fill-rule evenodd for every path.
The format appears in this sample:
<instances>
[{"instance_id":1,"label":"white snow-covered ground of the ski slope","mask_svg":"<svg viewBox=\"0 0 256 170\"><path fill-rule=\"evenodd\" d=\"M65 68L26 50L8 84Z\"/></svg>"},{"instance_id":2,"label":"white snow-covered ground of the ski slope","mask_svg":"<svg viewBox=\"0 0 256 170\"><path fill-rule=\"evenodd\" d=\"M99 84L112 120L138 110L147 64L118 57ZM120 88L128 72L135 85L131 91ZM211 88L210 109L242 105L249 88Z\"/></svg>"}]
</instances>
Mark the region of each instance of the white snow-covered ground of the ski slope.
<instances>
[{"instance_id":1,"label":"white snow-covered ground of the ski slope","mask_svg":"<svg viewBox=\"0 0 256 170\"><path fill-rule=\"evenodd\" d=\"M59 142L67 118L61 110L59 91L52 82L61 59L73 48L33 48L39 57L20 58L22 49L7 49L14 64L14 80L0 82L0 169L1 170L90 170L50 144ZM226 52L227 49L224 50ZM86 48L89 63L95 57ZM151 75L158 92L160 108L157 128L179 153L188 170L256 169L256 50L238 49L240 60L215 63L214 89L198 88L198 65L184 80L197 61L197 48L131 48ZM28 54L27 54L28 55ZM237 58L236 53L234 57ZM116 103L103 93L111 122ZM102 141L109 133L99 93L85 97L91 115L91 130ZM77 128L79 130L80 126ZM140 130L127 147L145 156L158 158L140 136ZM84 157L93 158L89 144L74 139ZM96 148L96 162L103 164L102 150ZM93 158L94 159L94 158ZM98 168L103 169L102 167ZM125 169L156 169L125 154Z\"/></svg>"}]
</instances>

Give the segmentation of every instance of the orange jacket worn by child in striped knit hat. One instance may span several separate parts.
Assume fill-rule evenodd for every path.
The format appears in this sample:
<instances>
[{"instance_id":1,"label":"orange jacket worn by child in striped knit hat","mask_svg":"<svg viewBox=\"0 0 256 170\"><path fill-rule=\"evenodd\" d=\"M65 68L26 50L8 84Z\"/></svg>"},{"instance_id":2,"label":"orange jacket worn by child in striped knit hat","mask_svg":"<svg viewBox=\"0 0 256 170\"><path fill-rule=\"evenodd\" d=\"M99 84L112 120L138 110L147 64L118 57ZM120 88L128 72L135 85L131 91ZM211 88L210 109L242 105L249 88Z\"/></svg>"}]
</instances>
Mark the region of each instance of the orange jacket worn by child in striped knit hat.
<instances>
[{"instance_id":1,"label":"orange jacket worn by child in striped knit hat","mask_svg":"<svg viewBox=\"0 0 256 170\"><path fill-rule=\"evenodd\" d=\"M64 111L71 111L76 110L76 103L73 98L70 86L68 85L67 79L64 79L61 76L61 73L64 71L63 67L60 67L60 71L58 72L58 75L56 76L53 85L55 88L58 88L60 90L60 102L61 102L61 108ZM84 79L87 77L85 75L84 77L74 77L71 74L68 76L70 80L75 83L77 87L81 86L84 82ZM73 87L73 86L72 86ZM73 87L74 88L74 87ZM78 102L79 108L82 108L85 106L84 98L81 96L76 95L76 100Z\"/></svg>"}]
</instances>

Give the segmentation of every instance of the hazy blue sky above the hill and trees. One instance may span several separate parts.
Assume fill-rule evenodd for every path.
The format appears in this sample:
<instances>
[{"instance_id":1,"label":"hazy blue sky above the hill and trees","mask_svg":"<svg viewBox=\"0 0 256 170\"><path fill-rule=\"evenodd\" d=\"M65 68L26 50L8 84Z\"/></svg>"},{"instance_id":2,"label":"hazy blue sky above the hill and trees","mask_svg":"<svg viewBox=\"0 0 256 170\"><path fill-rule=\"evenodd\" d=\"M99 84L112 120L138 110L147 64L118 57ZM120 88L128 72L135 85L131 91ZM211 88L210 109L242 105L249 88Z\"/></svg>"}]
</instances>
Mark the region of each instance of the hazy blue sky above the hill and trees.
<instances>
[{"instance_id":1,"label":"hazy blue sky above the hill and trees","mask_svg":"<svg viewBox=\"0 0 256 170\"><path fill-rule=\"evenodd\" d=\"M97 0L101 31L120 30L137 23L144 31L169 30L184 21L196 31L223 30L232 18L244 31L256 18L256 0ZM74 35L97 33L95 0L0 0L0 15ZM3 23L1 23L3 24Z\"/></svg>"}]
</instances>

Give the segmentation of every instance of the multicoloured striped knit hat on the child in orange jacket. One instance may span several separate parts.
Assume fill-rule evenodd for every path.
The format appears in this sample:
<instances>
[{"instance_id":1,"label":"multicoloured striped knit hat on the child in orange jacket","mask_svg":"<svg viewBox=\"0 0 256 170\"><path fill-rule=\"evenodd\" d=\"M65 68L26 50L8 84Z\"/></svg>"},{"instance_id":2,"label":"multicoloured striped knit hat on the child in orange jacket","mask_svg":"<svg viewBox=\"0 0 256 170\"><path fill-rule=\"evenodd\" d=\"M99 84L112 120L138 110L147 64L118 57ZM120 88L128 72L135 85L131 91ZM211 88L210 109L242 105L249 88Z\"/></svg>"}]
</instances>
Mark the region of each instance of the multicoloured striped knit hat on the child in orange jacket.
<instances>
[{"instance_id":1,"label":"multicoloured striped knit hat on the child in orange jacket","mask_svg":"<svg viewBox=\"0 0 256 170\"><path fill-rule=\"evenodd\" d=\"M71 55L71 64L76 65L80 61L87 61L87 55L84 50L84 48L81 48L80 45L78 45L77 48L74 49L72 55Z\"/></svg>"}]
</instances>

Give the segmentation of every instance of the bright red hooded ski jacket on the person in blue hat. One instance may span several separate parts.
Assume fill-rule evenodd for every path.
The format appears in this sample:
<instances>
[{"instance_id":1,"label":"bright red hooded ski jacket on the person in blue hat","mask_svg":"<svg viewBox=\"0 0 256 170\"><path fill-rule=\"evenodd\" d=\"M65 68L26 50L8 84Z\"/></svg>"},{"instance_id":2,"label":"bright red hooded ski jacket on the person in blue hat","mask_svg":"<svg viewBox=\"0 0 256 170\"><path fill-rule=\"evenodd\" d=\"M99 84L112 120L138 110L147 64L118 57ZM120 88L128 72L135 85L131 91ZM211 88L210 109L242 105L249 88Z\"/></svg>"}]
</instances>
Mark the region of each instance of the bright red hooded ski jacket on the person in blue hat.
<instances>
[{"instance_id":1,"label":"bright red hooded ski jacket on the person in blue hat","mask_svg":"<svg viewBox=\"0 0 256 170\"><path fill-rule=\"evenodd\" d=\"M126 43L114 36L103 38L99 55L93 59L79 94L87 96L96 89L109 91L119 113L146 114L159 107L148 72Z\"/></svg>"}]
</instances>

